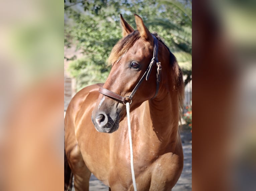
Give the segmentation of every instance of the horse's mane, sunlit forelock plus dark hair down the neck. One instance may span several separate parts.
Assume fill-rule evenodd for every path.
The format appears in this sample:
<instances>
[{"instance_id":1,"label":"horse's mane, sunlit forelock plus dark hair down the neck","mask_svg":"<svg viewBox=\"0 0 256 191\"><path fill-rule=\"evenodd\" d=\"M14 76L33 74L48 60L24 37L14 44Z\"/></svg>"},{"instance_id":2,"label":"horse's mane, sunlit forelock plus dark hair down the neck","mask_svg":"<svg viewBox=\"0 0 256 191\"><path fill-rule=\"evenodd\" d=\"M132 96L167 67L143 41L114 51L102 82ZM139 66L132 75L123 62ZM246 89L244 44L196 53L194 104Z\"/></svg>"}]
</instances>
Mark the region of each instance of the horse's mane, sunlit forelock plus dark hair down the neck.
<instances>
[{"instance_id":1,"label":"horse's mane, sunlit forelock plus dark hair down the neck","mask_svg":"<svg viewBox=\"0 0 256 191\"><path fill-rule=\"evenodd\" d=\"M157 33L152 33L157 40L159 40L169 51L170 54L170 65L172 66L172 75L171 80L173 82L172 91L178 92L178 101L179 101L179 121L181 124L181 117L183 111L183 100L184 100L184 82L182 77L182 71L177 63L176 57L171 53L170 49L165 45L162 39L157 35ZM108 65L113 65L115 62L121 59L121 57L129 50L135 41L140 38L140 33L138 30L133 31L129 35L120 39L117 44L113 47L109 58L108 58Z\"/></svg>"}]
</instances>

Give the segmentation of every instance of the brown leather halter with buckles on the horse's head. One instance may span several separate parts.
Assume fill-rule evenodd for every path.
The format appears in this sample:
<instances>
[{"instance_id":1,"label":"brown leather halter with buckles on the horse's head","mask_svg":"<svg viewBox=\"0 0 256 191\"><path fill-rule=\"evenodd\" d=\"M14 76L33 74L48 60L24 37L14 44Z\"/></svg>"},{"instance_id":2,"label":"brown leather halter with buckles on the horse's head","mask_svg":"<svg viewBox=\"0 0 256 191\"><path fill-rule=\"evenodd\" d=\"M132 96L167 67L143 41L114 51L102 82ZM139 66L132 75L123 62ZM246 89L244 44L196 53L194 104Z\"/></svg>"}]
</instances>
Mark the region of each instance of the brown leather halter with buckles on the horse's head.
<instances>
[{"instance_id":1,"label":"brown leather halter with buckles on the horse's head","mask_svg":"<svg viewBox=\"0 0 256 191\"><path fill-rule=\"evenodd\" d=\"M153 35L152 35L153 36ZM135 92L138 90L139 86L141 85L141 83L143 82L143 80L146 78L146 81L148 81L149 79L149 75L152 71L152 67L155 65L155 63L157 64L157 72L156 72L156 92L154 97L152 97L151 99L155 98L155 96L158 93L158 89L159 89L159 83L160 83L160 74L161 74L161 63L158 62L158 58L157 58L157 54L158 54L158 41L156 39L156 37L154 37L154 51L153 51L153 58L151 59L151 62L148 65L148 68L146 70L146 72L143 74L143 76L141 77L141 79L139 80L139 82L137 83L137 85L135 86L135 88L133 89L133 91L131 92L131 94L129 96L121 96L121 95L117 95L114 92L111 92L110 90L107 90L105 88L100 88L99 92L103 95L106 95L120 103L126 104L127 102L129 102L130 104L132 103L132 97L135 94ZM130 100L130 101L129 101Z\"/></svg>"}]
</instances>

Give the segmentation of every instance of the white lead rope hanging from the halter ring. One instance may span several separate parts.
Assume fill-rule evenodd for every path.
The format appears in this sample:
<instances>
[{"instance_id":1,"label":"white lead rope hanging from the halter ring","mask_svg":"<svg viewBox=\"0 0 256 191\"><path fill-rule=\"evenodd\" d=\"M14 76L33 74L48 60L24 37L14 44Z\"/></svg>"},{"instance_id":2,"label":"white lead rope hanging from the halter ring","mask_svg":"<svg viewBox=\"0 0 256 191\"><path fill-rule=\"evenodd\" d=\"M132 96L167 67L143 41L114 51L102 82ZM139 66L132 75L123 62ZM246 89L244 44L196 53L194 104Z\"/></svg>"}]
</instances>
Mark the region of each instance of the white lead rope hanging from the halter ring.
<instances>
[{"instance_id":1,"label":"white lead rope hanging from the halter ring","mask_svg":"<svg viewBox=\"0 0 256 191\"><path fill-rule=\"evenodd\" d=\"M137 191L134 168L133 168L133 150L132 150L132 133L131 133L131 122L130 122L130 103L126 103L126 112L127 112L127 121L128 121L128 134L129 134L129 143L130 143L130 155L131 155L131 170L132 170L132 183L134 191Z\"/></svg>"}]
</instances>

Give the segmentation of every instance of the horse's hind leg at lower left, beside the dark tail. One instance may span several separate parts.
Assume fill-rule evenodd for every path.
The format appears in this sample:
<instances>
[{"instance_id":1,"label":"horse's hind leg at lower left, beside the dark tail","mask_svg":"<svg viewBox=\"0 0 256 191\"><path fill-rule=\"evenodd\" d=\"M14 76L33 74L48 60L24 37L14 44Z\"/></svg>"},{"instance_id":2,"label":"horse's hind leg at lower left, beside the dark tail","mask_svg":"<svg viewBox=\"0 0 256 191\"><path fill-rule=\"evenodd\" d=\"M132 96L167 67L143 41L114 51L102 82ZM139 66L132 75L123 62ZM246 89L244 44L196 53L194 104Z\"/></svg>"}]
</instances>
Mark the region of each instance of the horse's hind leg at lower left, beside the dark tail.
<instances>
[{"instance_id":1,"label":"horse's hind leg at lower left, beside the dark tail","mask_svg":"<svg viewBox=\"0 0 256 191\"><path fill-rule=\"evenodd\" d=\"M89 191L91 171L87 168L77 145L69 152L69 163L74 174L75 190Z\"/></svg>"}]
</instances>

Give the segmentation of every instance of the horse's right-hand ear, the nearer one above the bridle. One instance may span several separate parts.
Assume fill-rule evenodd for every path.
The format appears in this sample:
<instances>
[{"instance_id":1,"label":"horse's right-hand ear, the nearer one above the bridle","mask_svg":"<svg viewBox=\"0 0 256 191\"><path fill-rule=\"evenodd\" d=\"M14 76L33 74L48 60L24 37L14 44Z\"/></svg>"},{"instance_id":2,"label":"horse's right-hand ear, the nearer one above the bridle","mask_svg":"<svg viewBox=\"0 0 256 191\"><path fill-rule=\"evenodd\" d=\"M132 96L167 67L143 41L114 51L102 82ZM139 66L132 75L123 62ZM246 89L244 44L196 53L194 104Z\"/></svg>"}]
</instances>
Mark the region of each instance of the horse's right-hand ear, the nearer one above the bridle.
<instances>
[{"instance_id":1,"label":"horse's right-hand ear, the nearer one above the bridle","mask_svg":"<svg viewBox=\"0 0 256 191\"><path fill-rule=\"evenodd\" d=\"M149 30L147 29L147 27L144 25L141 17L135 13L134 13L134 16L135 16L135 22L137 25L137 29L140 33L142 40L153 43L153 37L152 37L151 33L149 32Z\"/></svg>"}]
</instances>

